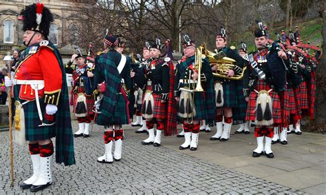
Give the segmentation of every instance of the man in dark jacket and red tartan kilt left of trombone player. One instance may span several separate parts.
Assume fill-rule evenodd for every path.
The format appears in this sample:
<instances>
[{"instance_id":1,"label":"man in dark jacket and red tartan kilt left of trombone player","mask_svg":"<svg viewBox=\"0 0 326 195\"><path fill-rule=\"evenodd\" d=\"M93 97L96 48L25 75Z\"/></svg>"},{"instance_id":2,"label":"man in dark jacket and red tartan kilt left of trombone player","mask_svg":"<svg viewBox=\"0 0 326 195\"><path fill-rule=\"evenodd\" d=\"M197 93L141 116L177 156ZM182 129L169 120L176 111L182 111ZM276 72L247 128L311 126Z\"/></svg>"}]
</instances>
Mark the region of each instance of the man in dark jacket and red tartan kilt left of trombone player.
<instances>
[{"instance_id":1,"label":"man in dark jacket and red tartan kilt left of trombone player","mask_svg":"<svg viewBox=\"0 0 326 195\"><path fill-rule=\"evenodd\" d=\"M169 58L160 58L161 48L159 39L156 39L156 43L151 45L150 54L153 60L141 69L142 71L139 72L140 74L136 78L146 83L146 91L142 103L142 116L146 119L149 138L142 141L142 144L153 144L155 147L160 147L162 132L166 129L166 116L168 115L171 79L169 69L172 62ZM156 124L156 136L154 124Z\"/></svg>"}]
</instances>

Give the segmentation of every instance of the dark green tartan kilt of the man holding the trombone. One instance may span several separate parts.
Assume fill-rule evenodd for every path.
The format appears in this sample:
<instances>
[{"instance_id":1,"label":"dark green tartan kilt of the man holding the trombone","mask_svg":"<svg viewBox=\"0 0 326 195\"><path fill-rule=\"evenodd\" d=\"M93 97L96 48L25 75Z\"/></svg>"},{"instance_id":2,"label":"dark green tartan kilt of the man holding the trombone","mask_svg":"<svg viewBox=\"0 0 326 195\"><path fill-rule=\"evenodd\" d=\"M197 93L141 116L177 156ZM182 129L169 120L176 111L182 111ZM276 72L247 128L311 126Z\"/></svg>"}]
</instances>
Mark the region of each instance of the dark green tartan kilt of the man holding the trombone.
<instances>
[{"instance_id":1,"label":"dark green tartan kilt of the man holding the trombone","mask_svg":"<svg viewBox=\"0 0 326 195\"><path fill-rule=\"evenodd\" d=\"M194 92L194 107L195 107L195 113L196 115L193 116L193 120L205 120L207 119L207 112L206 112L206 96L204 92ZM178 103L178 109L179 110L179 103ZM178 116L182 120L187 120L187 118L182 118ZM191 117L188 117L188 120L191 119Z\"/></svg>"}]
</instances>

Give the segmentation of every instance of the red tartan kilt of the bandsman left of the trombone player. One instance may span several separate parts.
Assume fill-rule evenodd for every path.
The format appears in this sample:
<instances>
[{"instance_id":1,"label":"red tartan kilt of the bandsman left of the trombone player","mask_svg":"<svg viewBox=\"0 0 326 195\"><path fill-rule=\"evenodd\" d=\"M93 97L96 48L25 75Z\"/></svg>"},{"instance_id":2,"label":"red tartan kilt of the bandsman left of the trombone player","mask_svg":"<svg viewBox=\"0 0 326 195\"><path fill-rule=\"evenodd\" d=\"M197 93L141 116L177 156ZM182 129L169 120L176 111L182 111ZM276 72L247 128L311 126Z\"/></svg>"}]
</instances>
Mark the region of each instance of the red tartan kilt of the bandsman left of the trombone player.
<instances>
[{"instance_id":1,"label":"red tartan kilt of the bandsman left of the trombone player","mask_svg":"<svg viewBox=\"0 0 326 195\"><path fill-rule=\"evenodd\" d=\"M154 99L154 107L153 107L153 118L155 119L166 119L167 114L167 103L162 103L162 94L155 94L152 92L153 99ZM142 101L142 109L146 106L144 104L144 98Z\"/></svg>"}]
</instances>

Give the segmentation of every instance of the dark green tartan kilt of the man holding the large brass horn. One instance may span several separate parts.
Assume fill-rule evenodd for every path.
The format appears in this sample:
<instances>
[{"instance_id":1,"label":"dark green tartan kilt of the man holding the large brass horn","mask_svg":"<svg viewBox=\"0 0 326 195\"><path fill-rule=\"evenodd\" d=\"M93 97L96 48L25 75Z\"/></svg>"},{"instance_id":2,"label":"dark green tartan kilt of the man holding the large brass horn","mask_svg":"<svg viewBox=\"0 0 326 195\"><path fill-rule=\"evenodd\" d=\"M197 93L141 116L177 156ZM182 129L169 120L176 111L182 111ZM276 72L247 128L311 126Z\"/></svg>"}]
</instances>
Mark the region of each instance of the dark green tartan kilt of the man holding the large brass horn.
<instances>
[{"instance_id":1,"label":"dark green tartan kilt of the man holding the large brass horn","mask_svg":"<svg viewBox=\"0 0 326 195\"><path fill-rule=\"evenodd\" d=\"M222 83L223 86L223 107L238 107L237 85L234 81Z\"/></svg>"}]
</instances>

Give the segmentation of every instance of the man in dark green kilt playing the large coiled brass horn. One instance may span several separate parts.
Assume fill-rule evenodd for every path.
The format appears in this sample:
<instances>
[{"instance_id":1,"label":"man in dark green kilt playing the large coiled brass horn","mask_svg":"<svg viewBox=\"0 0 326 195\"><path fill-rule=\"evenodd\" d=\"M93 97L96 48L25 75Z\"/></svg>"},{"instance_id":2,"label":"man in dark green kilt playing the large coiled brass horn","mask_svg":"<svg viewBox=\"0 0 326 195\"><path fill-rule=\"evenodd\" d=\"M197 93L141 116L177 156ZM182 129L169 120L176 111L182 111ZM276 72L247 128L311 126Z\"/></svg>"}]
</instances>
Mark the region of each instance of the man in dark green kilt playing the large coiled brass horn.
<instances>
[{"instance_id":1,"label":"man in dark green kilt playing the large coiled brass horn","mask_svg":"<svg viewBox=\"0 0 326 195\"><path fill-rule=\"evenodd\" d=\"M226 47L226 45L226 32L224 28L222 28L221 34L217 34L216 36L217 52L236 61L234 67L226 72L226 76L232 77L235 76L235 74L240 74L242 72L244 59L237 53L234 46ZM217 65L213 65L212 70L215 72L215 70L217 70ZM244 122L244 117L243 119L240 119L239 116L236 116L239 113L232 112L232 109L245 106L239 105L239 99L244 99L242 92L243 84L241 81L217 76L214 76L214 83L216 94L215 102L217 107L215 118L217 132L215 135L210 137L210 140L228 141L230 138L232 117L235 118L235 124ZM244 101L243 104L245 104Z\"/></svg>"}]
</instances>

